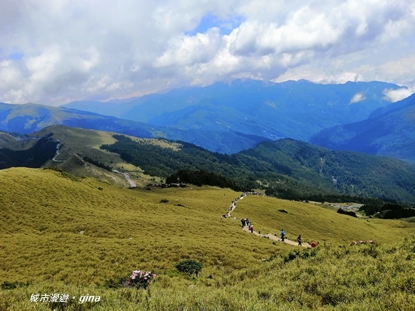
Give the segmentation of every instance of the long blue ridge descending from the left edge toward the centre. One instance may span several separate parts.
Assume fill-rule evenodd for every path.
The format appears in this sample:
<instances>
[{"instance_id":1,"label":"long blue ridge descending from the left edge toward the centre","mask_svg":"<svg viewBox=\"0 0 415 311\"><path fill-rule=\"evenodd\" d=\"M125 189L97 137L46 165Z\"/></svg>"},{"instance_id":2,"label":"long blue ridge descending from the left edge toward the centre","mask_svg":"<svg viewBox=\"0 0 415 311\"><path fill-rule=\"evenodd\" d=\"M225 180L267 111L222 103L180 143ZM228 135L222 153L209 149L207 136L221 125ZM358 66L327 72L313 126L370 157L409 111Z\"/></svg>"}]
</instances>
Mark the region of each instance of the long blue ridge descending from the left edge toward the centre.
<instances>
[{"instance_id":1,"label":"long blue ridge descending from the left edge toward the centre","mask_svg":"<svg viewBox=\"0 0 415 311\"><path fill-rule=\"evenodd\" d=\"M205 149L233 153L254 147L258 142L268 140L258 135L247 135L232 131L181 130L166 126L151 126L142 122L122 120L116 117L98 115L87 111L37 104L0 103L0 131L9 133L33 133L46 126L62 124L82 129L113 131L139 138L167 138L192 142Z\"/></svg>"}]
</instances>

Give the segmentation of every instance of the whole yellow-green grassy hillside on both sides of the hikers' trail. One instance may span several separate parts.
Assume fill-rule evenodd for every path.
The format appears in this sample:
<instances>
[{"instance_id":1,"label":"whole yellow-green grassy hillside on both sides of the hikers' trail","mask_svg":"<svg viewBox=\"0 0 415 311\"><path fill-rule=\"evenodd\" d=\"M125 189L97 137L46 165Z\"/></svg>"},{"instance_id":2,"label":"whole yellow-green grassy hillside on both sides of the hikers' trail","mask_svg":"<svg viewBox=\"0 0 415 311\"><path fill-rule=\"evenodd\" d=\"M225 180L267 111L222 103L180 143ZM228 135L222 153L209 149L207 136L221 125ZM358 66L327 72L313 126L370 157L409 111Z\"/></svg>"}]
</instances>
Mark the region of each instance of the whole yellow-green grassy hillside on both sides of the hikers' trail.
<instances>
[{"instance_id":1,"label":"whole yellow-green grassy hillside on both sides of the hikers' trail","mask_svg":"<svg viewBox=\"0 0 415 311\"><path fill-rule=\"evenodd\" d=\"M1 170L0 182L0 310L410 310L415 303L413 223L263 196L239 200L236 219L221 219L239 193L125 189L50 169ZM248 234L242 217L257 231L284 227L288 238L301 233L319 246ZM361 239L376 244L349 246ZM183 259L203 263L199 278L176 272ZM157 276L147 290L114 287L133 270ZM37 293L71 299L30 302ZM79 303L85 295L100 301Z\"/></svg>"}]
</instances>

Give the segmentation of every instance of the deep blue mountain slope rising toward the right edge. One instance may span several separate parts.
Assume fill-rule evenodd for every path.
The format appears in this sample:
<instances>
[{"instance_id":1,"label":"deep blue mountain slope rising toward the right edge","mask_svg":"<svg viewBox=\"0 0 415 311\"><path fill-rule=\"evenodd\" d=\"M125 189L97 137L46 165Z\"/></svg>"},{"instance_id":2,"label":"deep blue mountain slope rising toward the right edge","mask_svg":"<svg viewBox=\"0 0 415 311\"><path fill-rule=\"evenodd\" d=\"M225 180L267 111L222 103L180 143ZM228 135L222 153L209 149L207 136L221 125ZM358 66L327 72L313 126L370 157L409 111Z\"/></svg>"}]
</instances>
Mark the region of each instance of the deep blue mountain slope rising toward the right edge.
<instances>
[{"instance_id":1,"label":"deep blue mountain slope rising toward the right edge","mask_svg":"<svg viewBox=\"0 0 415 311\"><path fill-rule=\"evenodd\" d=\"M415 95L374 111L367 120L317 133L310 142L415 163Z\"/></svg>"}]
</instances>

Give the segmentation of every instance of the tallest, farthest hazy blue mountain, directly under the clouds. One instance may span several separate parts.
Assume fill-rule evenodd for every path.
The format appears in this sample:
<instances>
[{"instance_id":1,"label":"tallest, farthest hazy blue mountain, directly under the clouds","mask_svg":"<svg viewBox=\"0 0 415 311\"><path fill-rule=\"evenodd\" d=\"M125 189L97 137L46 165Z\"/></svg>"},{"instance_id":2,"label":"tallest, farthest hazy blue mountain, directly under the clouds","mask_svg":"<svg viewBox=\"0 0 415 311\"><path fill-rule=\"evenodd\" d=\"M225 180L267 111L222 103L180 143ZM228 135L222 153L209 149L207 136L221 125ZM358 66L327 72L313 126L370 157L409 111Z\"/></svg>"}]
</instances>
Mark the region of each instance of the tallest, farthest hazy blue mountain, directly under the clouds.
<instances>
[{"instance_id":1,"label":"tallest, farthest hazy blue mountain, directly under the clouds","mask_svg":"<svg viewBox=\"0 0 415 311\"><path fill-rule=\"evenodd\" d=\"M384 82L315 84L237 79L230 84L181 88L124 104L73 102L65 107L113 115L176 129L235 131L272 140L308 140L314 133L365 120L390 104L383 92L399 86Z\"/></svg>"}]
</instances>

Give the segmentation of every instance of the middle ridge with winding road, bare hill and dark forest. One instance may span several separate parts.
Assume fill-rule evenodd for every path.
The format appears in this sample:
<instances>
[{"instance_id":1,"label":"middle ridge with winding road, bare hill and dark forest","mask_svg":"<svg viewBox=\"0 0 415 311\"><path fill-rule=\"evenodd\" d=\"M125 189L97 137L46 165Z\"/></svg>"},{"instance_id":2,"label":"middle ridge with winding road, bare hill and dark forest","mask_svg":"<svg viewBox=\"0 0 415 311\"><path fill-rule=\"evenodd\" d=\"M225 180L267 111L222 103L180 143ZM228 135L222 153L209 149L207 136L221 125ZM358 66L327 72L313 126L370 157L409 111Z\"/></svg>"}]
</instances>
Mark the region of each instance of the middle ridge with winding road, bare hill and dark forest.
<instances>
[{"instance_id":1,"label":"middle ridge with winding road, bare hill and dark forest","mask_svg":"<svg viewBox=\"0 0 415 311\"><path fill-rule=\"evenodd\" d=\"M415 200L414 165L365 153L331 151L288 138L261 142L232 155L212 153L187 142L61 125L33 133L33 138L36 144L27 139L27 150L0 149L7 155L2 156L1 168L28 166L16 159L30 158L35 159L32 163L38 163L37 167L57 167L75 176L90 176L124 187L179 178L195 185L208 182L237 191L264 189L267 194L295 200Z\"/></svg>"}]
</instances>

